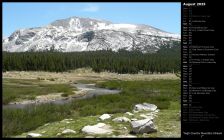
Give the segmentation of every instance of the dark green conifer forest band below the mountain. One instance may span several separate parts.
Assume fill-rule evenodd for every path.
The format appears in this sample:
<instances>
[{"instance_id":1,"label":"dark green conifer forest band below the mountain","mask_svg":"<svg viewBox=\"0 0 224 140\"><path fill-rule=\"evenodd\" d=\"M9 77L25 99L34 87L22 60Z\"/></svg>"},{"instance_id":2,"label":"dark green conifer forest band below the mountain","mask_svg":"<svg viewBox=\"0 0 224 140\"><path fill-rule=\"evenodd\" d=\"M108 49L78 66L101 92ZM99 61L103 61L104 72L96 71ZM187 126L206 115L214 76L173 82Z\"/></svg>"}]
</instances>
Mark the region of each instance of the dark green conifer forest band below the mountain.
<instances>
[{"instance_id":1,"label":"dark green conifer forest band below the mountain","mask_svg":"<svg viewBox=\"0 0 224 140\"><path fill-rule=\"evenodd\" d=\"M180 71L180 47L164 47L157 53L139 51L3 52L3 71L63 72L91 67L95 72L166 73Z\"/></svg>"}]
</instances>

